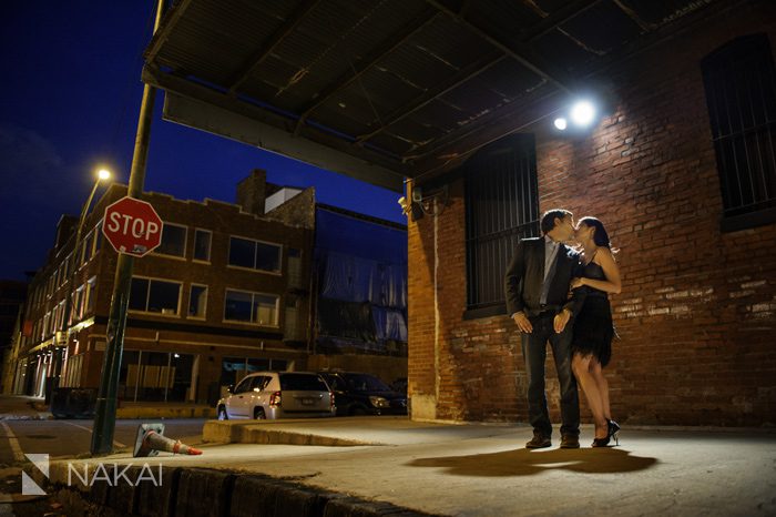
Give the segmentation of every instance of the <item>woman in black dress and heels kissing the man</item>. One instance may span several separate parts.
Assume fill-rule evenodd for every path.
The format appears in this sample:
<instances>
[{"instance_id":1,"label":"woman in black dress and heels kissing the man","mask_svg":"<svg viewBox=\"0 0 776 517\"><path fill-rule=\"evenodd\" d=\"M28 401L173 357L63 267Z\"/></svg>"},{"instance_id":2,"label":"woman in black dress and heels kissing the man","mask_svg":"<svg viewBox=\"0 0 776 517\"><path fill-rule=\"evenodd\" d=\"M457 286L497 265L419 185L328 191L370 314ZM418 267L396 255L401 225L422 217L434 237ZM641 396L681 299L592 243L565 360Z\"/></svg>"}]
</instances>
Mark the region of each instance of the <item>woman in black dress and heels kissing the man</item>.
<instances>
[{"instance_id":1,"label":"woman in black dress and heels kissing the man","mask_svg":"<svg viewBox=\"0 0 776 517\"><path fill-rule=\"evenodd\" d=\"M601 221L583 217L576 226L576 241L582 245L581 276L571 288L588 291L584 305L574 320L571 342L571 368L582 386L595 420L593 447L605 447L617 439L620 426L612 420L609 407L609 383L603 367L612 356L612 310L609 293L620 293L620 268L614 261L609 234Z\"/></svg>"}]
</instances>

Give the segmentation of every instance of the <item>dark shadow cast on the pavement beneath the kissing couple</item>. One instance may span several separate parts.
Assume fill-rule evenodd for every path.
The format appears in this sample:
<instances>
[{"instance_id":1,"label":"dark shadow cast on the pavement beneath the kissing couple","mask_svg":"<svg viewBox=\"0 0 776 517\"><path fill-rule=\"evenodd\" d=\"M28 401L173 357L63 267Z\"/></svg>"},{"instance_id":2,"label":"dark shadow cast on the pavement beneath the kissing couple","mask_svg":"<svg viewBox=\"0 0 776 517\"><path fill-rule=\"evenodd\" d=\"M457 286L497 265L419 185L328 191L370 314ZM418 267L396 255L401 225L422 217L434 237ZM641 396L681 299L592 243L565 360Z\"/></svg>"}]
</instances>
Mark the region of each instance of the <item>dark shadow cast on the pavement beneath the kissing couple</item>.
<instances>
[{"instance_id":1,"label":"dark shadow cast on the pavement beneath the kissing couple","mask_svg":"<svg viewBox=\"0 0 776 517\"><path fill-rule=\"evenodd\" d=\"M551 469L586 474L630 473L656 464L656 458L633 456L629 450L607 447L534 452L521 448L471 456L418 458L407 465L445 468L453 476L531 476Z\"/></svg>"}]
</instances>

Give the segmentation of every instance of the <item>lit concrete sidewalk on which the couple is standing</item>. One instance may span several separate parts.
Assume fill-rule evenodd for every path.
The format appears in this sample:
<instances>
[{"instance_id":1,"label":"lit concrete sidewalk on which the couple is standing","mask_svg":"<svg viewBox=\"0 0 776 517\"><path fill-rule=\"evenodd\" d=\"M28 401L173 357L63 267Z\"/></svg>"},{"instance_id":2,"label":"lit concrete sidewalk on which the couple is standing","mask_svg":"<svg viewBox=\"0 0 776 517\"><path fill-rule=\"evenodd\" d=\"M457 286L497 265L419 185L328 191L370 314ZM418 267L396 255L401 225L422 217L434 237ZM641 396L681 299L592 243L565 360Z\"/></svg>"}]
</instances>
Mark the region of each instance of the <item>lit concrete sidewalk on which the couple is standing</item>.
<instances>
[{"instance_id":1,"label":"lit concrete sidewalk on which the couple is standing","mask_svg":"<svg viewBox=\"0 0 776 517\"><path fill-rule=\"evenodd\" d=\"M177 497L173 507L177 504L186 515L248 515L244 509L257 508L261 501L254 499L266 497L267 483L287 485L273 488L273 505L309 494L318 494L320 500L323 493L328 494L324 499L329 506L350 501L339 513L324 505L319 513L300 515L394 515L402 508L458 516L776 515L773 429L625 424L619 447L591 449L592 428L584 427L581 449L558 448L555 434L553 447L534 452L524 448L531 437L527 426L449 425L401 417L208 422L205 435L229 442L249 437L264 445L206 444L202 456L124 454L83 463L95 467L98 462L135 466L146 462L163 465L165 476L177 472L177 495L165 497ZM320 445L284 445L310 443L304 438L309 436ZM65 484L68 468L53 463L51 480ZM118 500L120 489L108 490ZM104 494L100 498L111 499ZM120 510L165 515L144 514L137 497L131 500L129 507L120 503ZM213 501L219 503L212 506ZM367 506L355 511L353 505L359 504ZM272 508L263 515L283 515Z\"/></svg>"}]
</instances>

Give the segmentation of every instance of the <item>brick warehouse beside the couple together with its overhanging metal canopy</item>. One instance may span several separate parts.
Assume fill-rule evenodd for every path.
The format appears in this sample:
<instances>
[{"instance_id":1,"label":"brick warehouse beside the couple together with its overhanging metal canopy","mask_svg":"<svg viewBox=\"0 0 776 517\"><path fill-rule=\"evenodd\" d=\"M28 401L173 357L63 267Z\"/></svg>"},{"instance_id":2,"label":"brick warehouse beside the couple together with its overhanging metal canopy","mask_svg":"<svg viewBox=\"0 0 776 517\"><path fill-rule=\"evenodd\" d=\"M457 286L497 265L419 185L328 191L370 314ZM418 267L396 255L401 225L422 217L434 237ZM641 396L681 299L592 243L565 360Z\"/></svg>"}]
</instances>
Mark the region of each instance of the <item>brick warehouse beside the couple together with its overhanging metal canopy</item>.
<instances>
[{"instance_id":1,"label":"brick warehouse beside the couple together with its overhanging metal canopy","mask_svg":"<svg viewBox=\"0 0 776 517\"><path fill-rule=\"evenodd\" d=\"M527 419L503 270L563 205L622 250L615 418L774 423L773 1L219 7L173 6L143 81L167 120L415 186L413 418ZM582 93L603 118L554 132Z\"/></svg>"}]
</instances>

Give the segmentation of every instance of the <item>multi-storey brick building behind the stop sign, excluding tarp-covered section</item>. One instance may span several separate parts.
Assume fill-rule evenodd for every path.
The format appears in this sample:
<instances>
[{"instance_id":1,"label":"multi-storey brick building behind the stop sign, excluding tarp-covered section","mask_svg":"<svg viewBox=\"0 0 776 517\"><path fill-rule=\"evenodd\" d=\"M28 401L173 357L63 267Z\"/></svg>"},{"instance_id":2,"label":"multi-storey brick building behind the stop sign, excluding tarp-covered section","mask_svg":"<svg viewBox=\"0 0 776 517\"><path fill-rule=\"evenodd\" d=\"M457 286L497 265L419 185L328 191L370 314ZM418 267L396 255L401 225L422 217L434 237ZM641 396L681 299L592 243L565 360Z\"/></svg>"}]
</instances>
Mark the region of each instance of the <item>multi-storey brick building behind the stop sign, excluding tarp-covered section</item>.
<instances>
[{"instance_id":1,"label":"multi-storey brick building behind the stop sign, excluding tarp-covered section","mask_svg":"<svg viewBox=\"0 0 776 517\"><path fill-rule=\"evenodd\" d=\"M263 172L263 171L262 171ZM145 193L165 222L162 245L135 261L119 397L212 401L247 371L302 368L309 325L312 230L264 214L263 174L241 182L239 205ZM70 332L62 332L73 221L31 283L23 391L96 387L105 348L118 254L100 220L124 196L113 184L84 224L74 274Z\"/></svg>"}]
</instances>

